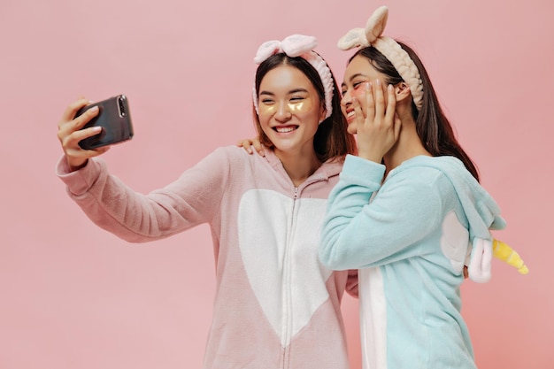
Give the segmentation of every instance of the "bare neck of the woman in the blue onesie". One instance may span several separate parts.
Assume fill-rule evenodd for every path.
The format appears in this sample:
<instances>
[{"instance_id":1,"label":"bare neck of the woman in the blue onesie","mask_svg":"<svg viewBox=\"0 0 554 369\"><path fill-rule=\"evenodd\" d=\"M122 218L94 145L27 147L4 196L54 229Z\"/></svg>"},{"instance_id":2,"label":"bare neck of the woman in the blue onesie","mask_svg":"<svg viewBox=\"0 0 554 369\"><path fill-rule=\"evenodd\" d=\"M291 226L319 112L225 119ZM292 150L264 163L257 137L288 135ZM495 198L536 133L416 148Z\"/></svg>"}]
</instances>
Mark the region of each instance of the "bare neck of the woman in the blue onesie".
<instances>
[{"instance_id":1,"label":"bare neck of the woman in the blue onesie","mask_svg":"<svg viewBox=\"0 0 554 369\"><path fill-rule=\"evenodd\" d=\"M412 113L405 111L405 113L399 114L399 118L402 121L402 128L398 136L398 141L396 141L395 146L383 157L383 161L387 167L385 176L395 169L396 166L401 165L410 158L420 155L427 157L432 156L419 139Z\"/></svg>"}]
</instances>

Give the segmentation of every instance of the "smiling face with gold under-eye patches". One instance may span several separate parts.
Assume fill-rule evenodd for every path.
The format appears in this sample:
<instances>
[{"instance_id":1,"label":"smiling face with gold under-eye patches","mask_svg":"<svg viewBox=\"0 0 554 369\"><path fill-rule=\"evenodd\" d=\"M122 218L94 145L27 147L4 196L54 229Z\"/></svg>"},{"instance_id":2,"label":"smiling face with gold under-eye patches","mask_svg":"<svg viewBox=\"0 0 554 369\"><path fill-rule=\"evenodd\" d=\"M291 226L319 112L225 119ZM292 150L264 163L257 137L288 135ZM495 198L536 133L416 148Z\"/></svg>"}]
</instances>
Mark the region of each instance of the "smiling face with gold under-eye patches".
<instances>
[{"instance_id":1,"label":"smiling face with gold under-eye patches","mask_svg":"<svg viewBox=\"0 0 554 369\"><path fill-rule=\"evenodd\" d=\"M259 124L276 153L313 152L325 109L308 77L294 66L280 65L265 74L258 91Z\"/></svg>"}]
</instances>

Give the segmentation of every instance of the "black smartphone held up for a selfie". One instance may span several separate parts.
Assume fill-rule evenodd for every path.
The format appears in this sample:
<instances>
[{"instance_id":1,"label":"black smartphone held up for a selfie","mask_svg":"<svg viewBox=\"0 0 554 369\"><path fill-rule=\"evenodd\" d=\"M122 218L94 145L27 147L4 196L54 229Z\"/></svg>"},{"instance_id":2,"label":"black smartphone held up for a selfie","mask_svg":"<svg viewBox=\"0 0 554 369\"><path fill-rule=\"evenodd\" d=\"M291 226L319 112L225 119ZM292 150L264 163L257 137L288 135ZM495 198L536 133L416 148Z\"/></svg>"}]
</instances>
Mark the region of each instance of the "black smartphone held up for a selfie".
<instances>
[{"instance_id":1,"label":"black smartphone held up for a selfie","mask_svg":"<svg viewBox=\"0 0 554 369\"><path fill-rule=\"evenodd\" d=\"M127 96L113 96L98 103L84 106L77 111L75 118L94 106L98 106L98 115L90 119L82 129L99 126L102 127L102 131L98 135L81 140L79 142L81 149L97 149L113 143L124 142L133 137L131 111L129 111Z\"/></svg>"}]
</instances>

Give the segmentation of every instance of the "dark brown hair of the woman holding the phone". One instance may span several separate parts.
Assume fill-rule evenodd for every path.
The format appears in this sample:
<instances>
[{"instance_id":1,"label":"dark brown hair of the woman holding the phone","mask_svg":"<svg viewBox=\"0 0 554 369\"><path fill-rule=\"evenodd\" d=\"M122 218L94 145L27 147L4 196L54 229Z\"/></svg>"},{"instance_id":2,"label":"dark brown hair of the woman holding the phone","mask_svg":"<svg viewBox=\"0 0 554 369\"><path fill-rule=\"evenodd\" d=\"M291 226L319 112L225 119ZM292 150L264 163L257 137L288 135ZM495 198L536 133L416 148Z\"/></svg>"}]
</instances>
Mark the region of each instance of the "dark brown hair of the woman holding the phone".
<instances>
[{"instance_id":1,"label":"dark brown hair of the woman holding the phone","mask_svg":"<svg viewBox=\"0 0 554 369\"><path fill-rule=\"evenodd\" d=\"M325 104L325 89L323 88L323 83L321 82L318 71L316 71L306 59L300 57L290 58L284 53L275 54L265 59L264 62L258 65L255 79L255 88L257 93L265 74L280 65L290 65L304 73L318 92L320 104ZM332 102L333 111L327 119L323 120L319 124L318 130L313 137L313 149L321 162L326 162L329 159L343 160L346 154L356 153L356 142L354 137L349 135L346 131L346 119L342 116L341 97L339 95L339 89L336 85L333 73L331 73L331 77L333 78L334 85ZM273 147L273 142L271 142L267 135L265 135L264 130L259 123L259 117L256 109L252 109L254 111L254 122L260 141L266 147Z\"/></svg>"}]
</instances>

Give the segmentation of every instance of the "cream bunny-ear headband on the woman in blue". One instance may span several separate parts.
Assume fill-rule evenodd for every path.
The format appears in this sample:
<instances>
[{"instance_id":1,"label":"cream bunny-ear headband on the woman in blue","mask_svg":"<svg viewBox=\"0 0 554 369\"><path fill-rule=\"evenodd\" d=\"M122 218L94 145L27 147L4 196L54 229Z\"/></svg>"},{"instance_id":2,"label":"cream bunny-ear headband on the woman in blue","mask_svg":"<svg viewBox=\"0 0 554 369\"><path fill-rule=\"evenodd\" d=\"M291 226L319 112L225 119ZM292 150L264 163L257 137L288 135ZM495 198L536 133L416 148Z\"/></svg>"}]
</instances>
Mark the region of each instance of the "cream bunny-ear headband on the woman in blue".
<instances>
[{"instance_id":1,"label":"cream bunny-ear headband on the woman in blue","mask_svg":"<svg viewBox=\"0 0 554 369\"><path fill-rule=\"evenodd\" d=\"M338 42L341 50L350 50L355 47L373 46L379 50L385 58L395 67L396 71L404 82L410 86L413 103L421 110L423 104L423 84L419 75L418 67L413 63L408 53L400 47L394 39L382 35L387 19L389 18L389 8L381 6L372 16L367 19L364 28L353 28L343 35Z\"/></svg>"}]
</instances>

